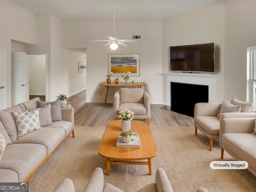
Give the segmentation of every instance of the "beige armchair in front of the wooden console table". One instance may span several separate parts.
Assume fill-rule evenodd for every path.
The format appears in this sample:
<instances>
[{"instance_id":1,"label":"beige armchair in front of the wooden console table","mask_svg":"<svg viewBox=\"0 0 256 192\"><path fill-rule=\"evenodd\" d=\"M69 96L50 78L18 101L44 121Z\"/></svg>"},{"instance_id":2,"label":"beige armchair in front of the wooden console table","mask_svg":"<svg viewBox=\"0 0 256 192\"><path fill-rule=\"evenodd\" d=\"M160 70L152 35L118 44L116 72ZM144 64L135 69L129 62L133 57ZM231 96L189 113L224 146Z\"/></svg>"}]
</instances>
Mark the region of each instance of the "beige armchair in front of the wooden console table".
<instances>
[{"instance_id":1,"label":"beige armchair in front of the wooden console table","mask_svg":"<svg viewBox=\"0 0 256 192\"><path fill-rule=\"evenodd\" d=\"M114 94L114 118L121 110L134 112L133 119L147 119L150 126L150 96L143 88L120 88Z\"/></svg>"}]
</instances>

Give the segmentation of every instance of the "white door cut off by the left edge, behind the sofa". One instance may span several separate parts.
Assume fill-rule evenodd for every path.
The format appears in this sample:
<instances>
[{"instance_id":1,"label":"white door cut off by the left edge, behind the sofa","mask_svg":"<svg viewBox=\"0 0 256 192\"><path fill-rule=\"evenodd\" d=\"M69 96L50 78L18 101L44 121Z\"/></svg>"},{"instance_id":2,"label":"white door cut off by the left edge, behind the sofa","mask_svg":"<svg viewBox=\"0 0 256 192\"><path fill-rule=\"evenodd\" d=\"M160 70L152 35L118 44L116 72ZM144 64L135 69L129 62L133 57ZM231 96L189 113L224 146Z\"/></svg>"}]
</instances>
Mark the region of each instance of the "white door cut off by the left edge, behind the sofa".
<instances>
[{"instance_id":1,"label":"white door cut off by the left edge, behind the sofa","mask_svg":"<svg viewBox=\"0 0 256 192\"><path fill-rule=\"evenodd\" d=\"M6 105L6 48L0 48L0 110Z\"/></svg>"}]
</instances>

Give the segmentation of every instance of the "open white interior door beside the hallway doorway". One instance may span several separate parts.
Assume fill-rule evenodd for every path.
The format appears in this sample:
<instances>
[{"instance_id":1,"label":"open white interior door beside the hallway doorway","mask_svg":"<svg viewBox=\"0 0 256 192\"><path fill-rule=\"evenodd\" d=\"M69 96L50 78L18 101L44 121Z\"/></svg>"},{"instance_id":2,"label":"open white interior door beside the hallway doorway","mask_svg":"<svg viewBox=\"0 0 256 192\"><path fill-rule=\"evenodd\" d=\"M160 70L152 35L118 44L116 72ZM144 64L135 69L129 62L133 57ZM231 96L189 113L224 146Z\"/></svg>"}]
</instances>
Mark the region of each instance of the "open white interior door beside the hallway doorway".
<instances>
[{"instance_id":1,"label":"open white interior door beside the hallway doorway","mask_svg":"<svg viewBox=\"0 0 256 192\"><path fill-rule=\"evenodd\" d=\"M12 106L29 100L28 64L25 52L12 52Z\"/></svg>"}]
</instances>

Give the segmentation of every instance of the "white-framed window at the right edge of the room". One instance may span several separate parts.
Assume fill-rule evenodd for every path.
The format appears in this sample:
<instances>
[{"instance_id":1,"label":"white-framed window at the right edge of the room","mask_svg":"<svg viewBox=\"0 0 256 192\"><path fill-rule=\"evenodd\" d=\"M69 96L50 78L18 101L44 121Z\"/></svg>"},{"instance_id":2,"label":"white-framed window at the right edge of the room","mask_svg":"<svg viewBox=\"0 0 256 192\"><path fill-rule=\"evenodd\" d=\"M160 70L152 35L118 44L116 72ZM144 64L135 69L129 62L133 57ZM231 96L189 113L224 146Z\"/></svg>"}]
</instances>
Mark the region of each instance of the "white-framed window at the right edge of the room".
<instances>
[{"instance_id":1,"label":"white-framed window at the right edge of the room","mask_svg":"<svg viewBox=\"0 0 256 192\"><path fill-rule=\"evenodd\" d=\"M246 100L253 102L253 111L256 111L256 46L247 48L246 90Z\"/></svg>"}]
</instances>

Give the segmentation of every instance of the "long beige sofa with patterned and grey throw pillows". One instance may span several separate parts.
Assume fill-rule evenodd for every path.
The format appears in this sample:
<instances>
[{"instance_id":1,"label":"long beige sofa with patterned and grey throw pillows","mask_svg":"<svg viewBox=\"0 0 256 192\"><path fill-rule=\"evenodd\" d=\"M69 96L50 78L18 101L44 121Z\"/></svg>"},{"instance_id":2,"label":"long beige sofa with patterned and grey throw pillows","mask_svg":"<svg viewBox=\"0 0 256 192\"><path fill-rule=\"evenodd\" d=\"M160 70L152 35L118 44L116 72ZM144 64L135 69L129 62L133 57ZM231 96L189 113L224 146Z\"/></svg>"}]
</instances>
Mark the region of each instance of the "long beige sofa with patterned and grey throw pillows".
<instances>
[{"instance_id":1,"label":"long beige sofa with patterned and grey throw pillows","mask_svg":"<svg viewBox=\"0 0 256 192\"><path fill-rule=\"evenodd\" d=\"M33 111L39 105L40 111ZM37 130L33 126L33 130L29 130L20 125L14 114L22 119L25 110L28 110L26 115L32 117L40 112L38 119L41 125L46 123L46 126L39 126ZM41 111L44 113L41 114ZM29 122L30 125L32 123ZM74 137L74 108L60 108L58 100L48 104L34 98L1 110L0 132L6 142L0 157L0 182L26 182L71 133Z\"/></svg>"}]
</instances>

